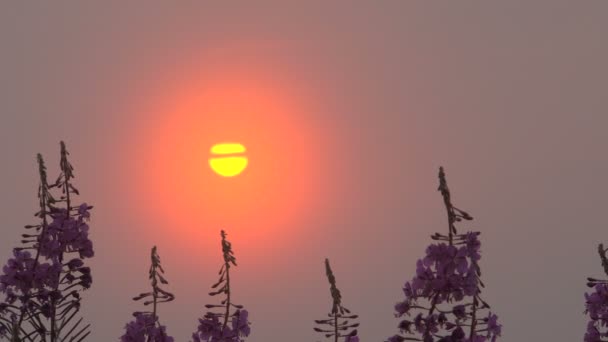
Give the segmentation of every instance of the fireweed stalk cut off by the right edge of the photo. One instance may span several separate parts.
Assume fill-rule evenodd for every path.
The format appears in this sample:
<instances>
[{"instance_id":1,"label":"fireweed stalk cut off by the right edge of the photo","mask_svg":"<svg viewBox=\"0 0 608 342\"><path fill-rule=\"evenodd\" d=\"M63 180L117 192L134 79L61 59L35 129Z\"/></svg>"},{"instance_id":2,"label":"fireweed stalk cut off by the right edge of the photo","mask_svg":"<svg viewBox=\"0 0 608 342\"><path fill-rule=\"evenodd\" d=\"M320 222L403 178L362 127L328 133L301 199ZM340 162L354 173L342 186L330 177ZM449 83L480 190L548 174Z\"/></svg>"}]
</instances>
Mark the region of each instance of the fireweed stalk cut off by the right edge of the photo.
<instances>
[{"instance_id":1,"label":"fireweed stalk cut off by the right edge of the photo","mask_svg":"<svg viewBox=\"0 0 608 342\"><path fill-rule=\"evenodd\" d=\"M607 249L600 243L598 253L604 273L608 275ZM587 278L587 286L593 292L585 293L585 313L589 314L585 342L608 341L608 280Z\"/></svg>"}]
</instances>

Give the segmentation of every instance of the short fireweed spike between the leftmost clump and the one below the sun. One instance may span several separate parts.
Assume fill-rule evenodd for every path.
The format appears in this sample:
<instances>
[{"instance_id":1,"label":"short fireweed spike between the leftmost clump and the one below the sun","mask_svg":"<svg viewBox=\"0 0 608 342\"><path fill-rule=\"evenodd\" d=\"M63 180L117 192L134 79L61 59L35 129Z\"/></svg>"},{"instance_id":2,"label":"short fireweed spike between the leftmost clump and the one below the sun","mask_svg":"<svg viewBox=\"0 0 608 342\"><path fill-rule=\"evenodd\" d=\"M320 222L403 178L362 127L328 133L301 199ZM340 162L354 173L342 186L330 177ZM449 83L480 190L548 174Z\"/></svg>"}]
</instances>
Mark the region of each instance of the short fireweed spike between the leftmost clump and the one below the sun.
<instances>
[{"instance_id":1,"label":"short fireweed spike between the leftmost clump and the one below the sun","mask_svg":"<svg viewBox=\"0 0 608 342\"><path fill-rule=\"evenodd\" d=\"M158 304L170 302L175 299L175 296L163 290L159 285L159 283L166 285L169 282L163 277L165 271L160 265L160 257L156 252L156 246L152 247L150 259L149 277L152 291L141 293L133 300L152 297L144 302L144 305L152 304L152 311L134 312L135 320L125 326L126 331L120 337L121 342L173 342L173 337L167 335L167 329L160 324L157 314Z\"/></svg>"}]
</instances>

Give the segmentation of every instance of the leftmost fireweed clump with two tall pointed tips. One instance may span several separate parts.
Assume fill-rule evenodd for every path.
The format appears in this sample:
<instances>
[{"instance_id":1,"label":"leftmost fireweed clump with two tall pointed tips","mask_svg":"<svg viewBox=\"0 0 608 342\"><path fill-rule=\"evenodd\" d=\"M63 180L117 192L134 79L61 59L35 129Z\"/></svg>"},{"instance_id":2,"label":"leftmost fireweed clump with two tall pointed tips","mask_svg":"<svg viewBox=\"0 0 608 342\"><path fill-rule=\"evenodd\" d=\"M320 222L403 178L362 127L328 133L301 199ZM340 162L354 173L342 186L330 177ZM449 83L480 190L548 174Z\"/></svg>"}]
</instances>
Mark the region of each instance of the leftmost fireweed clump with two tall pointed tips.
<instances>
[{"instance_id":1,"label":"leftmost fireweed clump with two tall pointed tips","mask_svg":"<svg viewBox=\"0 0 608 342\"><path fill-rule=\"evenodd\" d=\"M0 275L0 338L11 342L83 341L89 324L75 319L80 310L80 292L91 287L92 278L84 259L93 257L89 240L89 210L86 203L74 205L79 195L72 183L74 168L63 141L60 175L47 181L44 160L37 156L39 222L27 225L23 244L14 248ZM60 192L57 195L52 191Z\"/></svg>"}]
</instances>

